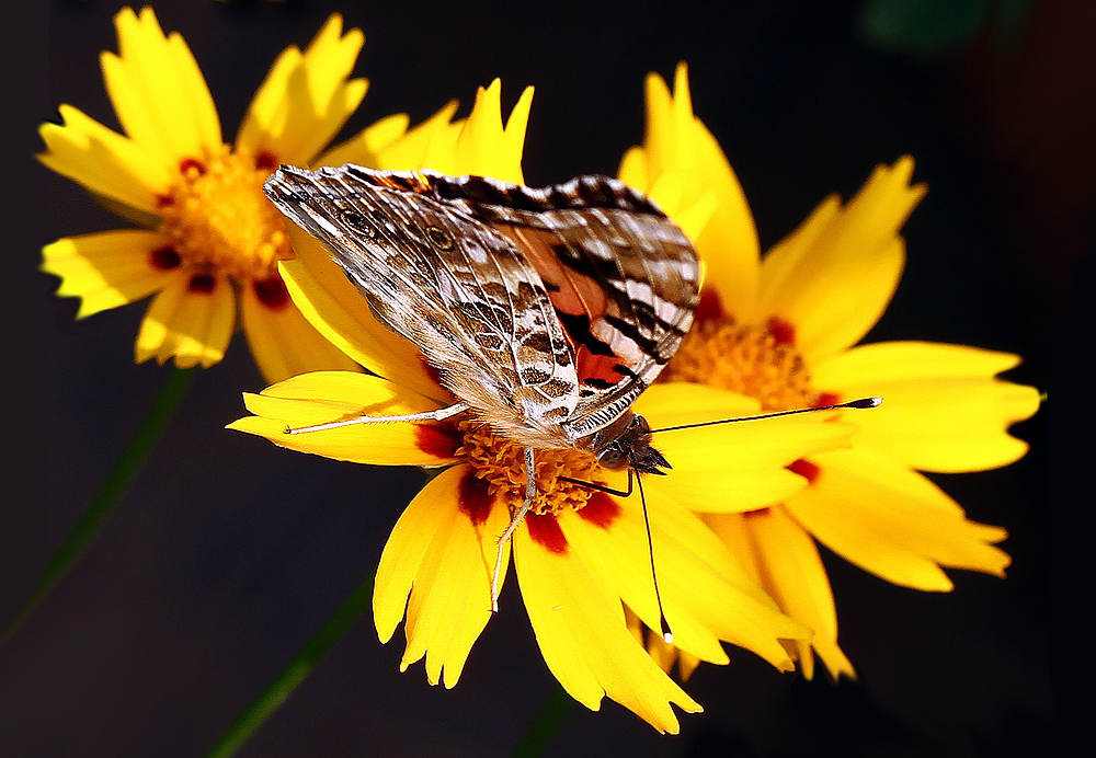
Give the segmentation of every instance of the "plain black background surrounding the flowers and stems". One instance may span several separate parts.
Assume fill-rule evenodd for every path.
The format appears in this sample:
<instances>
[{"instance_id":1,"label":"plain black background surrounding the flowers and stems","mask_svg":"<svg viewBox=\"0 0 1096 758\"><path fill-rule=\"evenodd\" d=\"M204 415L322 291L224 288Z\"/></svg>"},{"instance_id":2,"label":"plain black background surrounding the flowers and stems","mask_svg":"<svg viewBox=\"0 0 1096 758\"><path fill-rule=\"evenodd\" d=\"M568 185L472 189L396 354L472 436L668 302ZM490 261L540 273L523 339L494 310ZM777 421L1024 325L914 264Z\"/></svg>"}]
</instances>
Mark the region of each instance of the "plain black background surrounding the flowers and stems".
<instances>
[{"instance_id":1,"label":"plain black background surrounding the flowers and stems","mask_svg":"<svg viewBox=\"0 0 1096 758\"><path fill-rule=\"evenodd\" d=\"M35 126L62 102L115 126L98 54L117 49L121 3L50 2L48 20L22 4L4 50L19 96L4 200L15 263L5 410L16 420L0 529L4 623L170 370L132 363L144 305L76 323L77 301L34 272L43 244L126 226L28 158L42 149ZM1083 355L1092 344L1077 319L1096 226L1096 14L1087 2L1032 3L1002 33L982 5L996 7L951 3L970 18L927 36L865 31L865 3L810 0L156 10L194 50L229 139L275 56L306 45L335 10L365 31L355 71L372 81L344 136L399 111L418 123L450 97L467 113L494 77L509 112L534 84L533 185L615 173L642 139L644 74L672 77L685 59L695 111L766 248L829 193L848 197L876 163L912 153L929 193L904 228L898 296L868 340L1018 353L1026 361L1009 377L1046 389L1049 345ZM1066 382L1059 400L1082 405L1088 395L1070 380L1083 390L1091 369L1077 364L1055 381ZM243 414L240 392L262 387L237 335L221 365L198 372L87 556L0 650L0 756L202 755L376 566L420 474L224 430ZM605 701L598 713L575 707L549 755L1052 755L1075 703L1054 684L1082 678L1073 669L1089 645L1083 628L1070 630L1075 658L1053 644L1076 623L1081 526L1048 495L1047 415L1014 428L1032 445L1019 463L934 478L971 518L1008 528L1007 579L951 572L956 590L933 595L825 555L858 684L807 682L732 651L731 666L701 667L687 684L705 712L682 715L680 736ZM1078 450L1060 448L1060 460L1083 461ZM402 631L380 645L366 615L240 755L506 755L555 688L514 583L454 690L427 686L421 663L401 675L401 653Z\"/></svg>"}]
</instances>

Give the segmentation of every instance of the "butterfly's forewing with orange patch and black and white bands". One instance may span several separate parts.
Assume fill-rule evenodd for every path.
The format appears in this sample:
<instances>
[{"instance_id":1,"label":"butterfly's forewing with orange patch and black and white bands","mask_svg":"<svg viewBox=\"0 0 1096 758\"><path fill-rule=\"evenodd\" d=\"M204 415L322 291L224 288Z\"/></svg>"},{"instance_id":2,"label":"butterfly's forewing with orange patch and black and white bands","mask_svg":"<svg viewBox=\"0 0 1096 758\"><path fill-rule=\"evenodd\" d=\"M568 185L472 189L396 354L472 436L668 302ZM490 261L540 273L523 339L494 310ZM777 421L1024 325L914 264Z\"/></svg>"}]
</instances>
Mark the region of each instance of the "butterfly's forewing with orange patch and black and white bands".
<instances>
[{"instance_id":1,"label":"butterfly's forewing with orange patch and black and white bands","mask_svg":"<svg viewBox=\"0 0 1096 758\"><path fill-rule=\"evenodd\" d=\"M578 438L624 413L673 357L699 297L696 251L649 198L607 176L544 188L436 176L435 191L514 241L575 353Z\"/></svg>"}]
</instances>

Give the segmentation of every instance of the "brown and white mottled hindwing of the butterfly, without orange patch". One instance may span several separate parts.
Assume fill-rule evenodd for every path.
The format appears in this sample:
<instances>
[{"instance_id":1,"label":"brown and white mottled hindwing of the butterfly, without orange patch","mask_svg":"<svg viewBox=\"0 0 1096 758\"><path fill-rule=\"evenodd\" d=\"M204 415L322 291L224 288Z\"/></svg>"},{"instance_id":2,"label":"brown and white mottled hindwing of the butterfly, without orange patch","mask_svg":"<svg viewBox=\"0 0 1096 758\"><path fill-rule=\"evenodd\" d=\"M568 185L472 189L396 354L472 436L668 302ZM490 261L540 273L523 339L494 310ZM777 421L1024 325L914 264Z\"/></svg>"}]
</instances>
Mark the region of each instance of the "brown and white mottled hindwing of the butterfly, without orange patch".
<instances>
[{"instance_id":1,"label":"brown and white mottled hindwing of the butterfly, without orange patch","mask_svg":"<svg viewBox=\"0 0 1096 758\"><path fill-rule=\"evenodd\" d=\"M427 177L282 166L267 196L331 251L379 321L516 443L568 445L573 352L536 269L504 236L429 194Z\"/></svg>"}]
</instances>

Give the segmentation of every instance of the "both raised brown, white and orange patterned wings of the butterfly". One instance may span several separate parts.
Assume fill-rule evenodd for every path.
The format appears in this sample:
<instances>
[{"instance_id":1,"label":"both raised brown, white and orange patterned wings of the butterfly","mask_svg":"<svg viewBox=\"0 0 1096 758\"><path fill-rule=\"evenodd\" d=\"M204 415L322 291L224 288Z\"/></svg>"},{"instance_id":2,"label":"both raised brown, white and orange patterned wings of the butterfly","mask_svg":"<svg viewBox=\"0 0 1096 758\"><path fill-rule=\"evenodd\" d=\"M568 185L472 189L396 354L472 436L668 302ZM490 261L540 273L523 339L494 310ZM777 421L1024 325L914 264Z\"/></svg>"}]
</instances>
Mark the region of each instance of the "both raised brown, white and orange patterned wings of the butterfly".
<instances>
[{"instance_id":1,"label":"both raised brown, white and orange patterned wings of the butterfly","mask_svg":"<svg viewBox=\"0 0 1096 758\"><path fill-rule=\"evenodd\" d=\"M527 447L571 447L630 421L692 323L692 245L613 179L529 188L283 166L266 190L456 397ZM594 437L598 452L613 435Z\"/></svg>"}]
</instances>

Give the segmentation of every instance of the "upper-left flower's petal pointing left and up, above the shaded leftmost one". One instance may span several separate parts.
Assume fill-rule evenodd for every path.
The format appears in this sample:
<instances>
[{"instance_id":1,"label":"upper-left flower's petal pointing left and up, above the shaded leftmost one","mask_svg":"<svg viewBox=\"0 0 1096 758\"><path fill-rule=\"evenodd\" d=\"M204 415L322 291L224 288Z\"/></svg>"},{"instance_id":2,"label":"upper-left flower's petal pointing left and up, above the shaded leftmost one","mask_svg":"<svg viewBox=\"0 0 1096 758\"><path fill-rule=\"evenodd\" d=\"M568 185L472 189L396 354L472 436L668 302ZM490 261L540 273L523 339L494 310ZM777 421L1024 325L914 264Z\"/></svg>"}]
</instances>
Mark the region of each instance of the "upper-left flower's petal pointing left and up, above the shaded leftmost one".
<instances>
[{"instance_id":1,"label":"upper-left flower's petal pointing left and up, above the shaded leftmost one","mask_svg":"<svg viewBox=\"0 0 1096 758\"><path fill-rule=\"evenodd\" d=\"M71 105L61 105L62 124L43 124L46 152L38 160L95 194L145 211L157 210L176 173L171 157L148 150L107 129Z\"/></svg>"}]
</instances>

